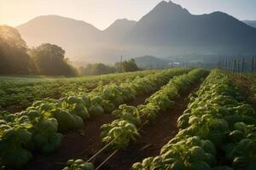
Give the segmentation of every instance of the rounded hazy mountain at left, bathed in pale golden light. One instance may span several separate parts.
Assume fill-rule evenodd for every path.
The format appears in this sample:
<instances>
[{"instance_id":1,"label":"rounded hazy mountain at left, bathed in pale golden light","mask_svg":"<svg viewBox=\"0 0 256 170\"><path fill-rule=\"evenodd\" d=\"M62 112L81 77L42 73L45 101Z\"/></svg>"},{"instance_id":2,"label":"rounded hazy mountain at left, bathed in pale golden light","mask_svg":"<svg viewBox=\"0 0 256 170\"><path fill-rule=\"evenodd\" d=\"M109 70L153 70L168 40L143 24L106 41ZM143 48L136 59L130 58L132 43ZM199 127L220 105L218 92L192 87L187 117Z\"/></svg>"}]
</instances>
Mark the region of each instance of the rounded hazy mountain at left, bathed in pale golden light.
<instances>
[{"instance_id":1,"label":"rounded hazy mountain at left, bathed in pale golden light","mask_svg":"<svg viewBox=\"0 0 256 170\"><path fill-rule=\"evenodd\" d=\"M101 31L81 20L73 20L57 15L45 15L17 26L28 46L38 46L43 42L55 43L66 49L69 57L90 55L101 38ZM90 48L90 51L84 48Z\"/></svg>"}]
</instances>

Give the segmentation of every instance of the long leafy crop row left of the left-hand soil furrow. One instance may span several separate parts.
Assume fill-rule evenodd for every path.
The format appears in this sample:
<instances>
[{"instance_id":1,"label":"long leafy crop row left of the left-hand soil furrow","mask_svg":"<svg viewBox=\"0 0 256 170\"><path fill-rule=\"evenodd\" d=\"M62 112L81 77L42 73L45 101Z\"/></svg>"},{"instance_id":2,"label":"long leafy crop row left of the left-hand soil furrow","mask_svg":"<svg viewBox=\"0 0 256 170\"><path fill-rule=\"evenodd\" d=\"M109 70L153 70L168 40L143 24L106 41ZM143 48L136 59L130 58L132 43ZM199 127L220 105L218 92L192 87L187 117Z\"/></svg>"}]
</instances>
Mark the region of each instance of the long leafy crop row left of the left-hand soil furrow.
<instances>
[{"instance_id":1,"label":"long leafy crop row left of the left-hand soil furrow","mask_svg":"<svg viewBox=\"0 0 256 170\"><path fill-rule=\"evenodd\" d=\"M188 72L171 69L136 78L131 82L109 84L89 94L61 99L43 99L26 111L16 114L0 112L0 165L23 167L32 152L49 154L61 146L61 132L84 127L84 121L101 116L141 94L148 94L166 84L170 78Z\"/></svg>"}]
</instances>

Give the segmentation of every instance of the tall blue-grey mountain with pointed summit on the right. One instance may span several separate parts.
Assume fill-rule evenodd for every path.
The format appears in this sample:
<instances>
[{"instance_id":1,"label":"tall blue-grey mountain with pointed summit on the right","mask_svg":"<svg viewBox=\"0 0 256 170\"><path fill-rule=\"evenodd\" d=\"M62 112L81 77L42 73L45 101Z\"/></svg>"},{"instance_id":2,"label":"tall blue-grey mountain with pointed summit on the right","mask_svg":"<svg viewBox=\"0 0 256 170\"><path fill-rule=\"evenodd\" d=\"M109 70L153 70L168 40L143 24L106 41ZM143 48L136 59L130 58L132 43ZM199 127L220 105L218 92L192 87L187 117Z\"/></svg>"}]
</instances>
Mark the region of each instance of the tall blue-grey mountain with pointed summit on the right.
<instances>
[{"instance_id":1,"label":"tall blue-grey mountain with pointed summit on the right","mask_svg":"<svg viewBox=\"0 0 256 170\"><path fill-rule=\"evenodd\" d=\"M194 15L163 1L137 22L127 40L168 53L243 54L254 52L256 29L229 14Z\"/></svg>"}]
</instances>

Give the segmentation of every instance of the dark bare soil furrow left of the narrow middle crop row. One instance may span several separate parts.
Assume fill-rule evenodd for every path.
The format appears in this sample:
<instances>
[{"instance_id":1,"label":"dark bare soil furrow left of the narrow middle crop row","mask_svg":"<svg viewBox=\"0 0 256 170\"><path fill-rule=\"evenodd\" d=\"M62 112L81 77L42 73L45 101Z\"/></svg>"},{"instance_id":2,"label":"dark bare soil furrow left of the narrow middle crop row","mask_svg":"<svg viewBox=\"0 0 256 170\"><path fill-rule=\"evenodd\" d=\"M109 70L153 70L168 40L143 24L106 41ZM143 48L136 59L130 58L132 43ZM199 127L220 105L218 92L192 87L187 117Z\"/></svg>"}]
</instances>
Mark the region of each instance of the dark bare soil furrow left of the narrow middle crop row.
<instances>
[{"instance_id":1,"label":"dark bare soil furrow left of the narrow middle crop row","mask_svg":"<svg viewBox=\"0 0 256 170\"><path fill-rule=\"evenodd\" d=\"M127 103L127 105L137 106L143 104L151 94L137 97L136 100ZM96 151L101 150L102 141L100 138L101 126L112 122L116 117L111 114L104 114L100 117L91 118L84 122L84 129L81 131L70 131L64 133L64 139L61 148L55 150L49 156L35 153L31 162L23 169L26 170L58 170L65 167L69 159L83 158L87 160L93 156ZM40 166L38 166L40 165Z\"/></svg>"}]
</instances>

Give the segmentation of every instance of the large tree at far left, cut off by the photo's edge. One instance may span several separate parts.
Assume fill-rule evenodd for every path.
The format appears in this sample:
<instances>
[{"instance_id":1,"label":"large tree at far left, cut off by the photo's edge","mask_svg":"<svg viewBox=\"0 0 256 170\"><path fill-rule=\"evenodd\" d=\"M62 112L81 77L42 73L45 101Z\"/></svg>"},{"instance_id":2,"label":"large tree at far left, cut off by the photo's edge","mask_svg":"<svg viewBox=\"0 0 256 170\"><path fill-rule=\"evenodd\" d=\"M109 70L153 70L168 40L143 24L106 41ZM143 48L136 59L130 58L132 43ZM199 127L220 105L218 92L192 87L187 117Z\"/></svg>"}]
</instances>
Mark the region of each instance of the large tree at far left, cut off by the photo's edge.
<instances>
[{"instance_id":1,"label":"large tree at far left, cut off by the photo's edge","mask_svg":"<svg viewBox=\"0 0 256 170\"><path fill-rule=\"evenodd\" d=\"M10 26L0 26L0 74L35 73L26 42Z\"/></svg>"}]
</instances>

